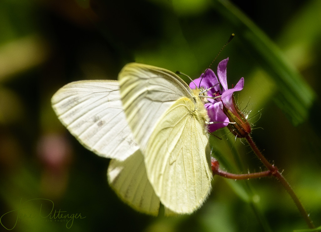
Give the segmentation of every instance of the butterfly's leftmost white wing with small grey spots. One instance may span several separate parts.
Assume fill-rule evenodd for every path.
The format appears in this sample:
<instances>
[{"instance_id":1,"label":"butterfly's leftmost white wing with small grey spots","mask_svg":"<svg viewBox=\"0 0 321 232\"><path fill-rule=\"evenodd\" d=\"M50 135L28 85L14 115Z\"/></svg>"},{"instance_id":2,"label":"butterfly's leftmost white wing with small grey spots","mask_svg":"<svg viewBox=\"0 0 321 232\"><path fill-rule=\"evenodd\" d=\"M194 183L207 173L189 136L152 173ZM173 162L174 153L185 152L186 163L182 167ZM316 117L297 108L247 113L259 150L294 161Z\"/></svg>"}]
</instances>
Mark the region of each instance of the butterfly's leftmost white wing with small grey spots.
<instances>
[{"instance_id":1,"label":"butterfly's leftmost white wing with small grey spots","mask_svg":"<svg viewBox=\"0 0 321 232\"><path fill-rule=\"evenodd\" d=\"M97 155L125 160L139 149L126 121L117 81L72 82L59 89L51 103L69 132Z\"/></svg>"}]
</instances>

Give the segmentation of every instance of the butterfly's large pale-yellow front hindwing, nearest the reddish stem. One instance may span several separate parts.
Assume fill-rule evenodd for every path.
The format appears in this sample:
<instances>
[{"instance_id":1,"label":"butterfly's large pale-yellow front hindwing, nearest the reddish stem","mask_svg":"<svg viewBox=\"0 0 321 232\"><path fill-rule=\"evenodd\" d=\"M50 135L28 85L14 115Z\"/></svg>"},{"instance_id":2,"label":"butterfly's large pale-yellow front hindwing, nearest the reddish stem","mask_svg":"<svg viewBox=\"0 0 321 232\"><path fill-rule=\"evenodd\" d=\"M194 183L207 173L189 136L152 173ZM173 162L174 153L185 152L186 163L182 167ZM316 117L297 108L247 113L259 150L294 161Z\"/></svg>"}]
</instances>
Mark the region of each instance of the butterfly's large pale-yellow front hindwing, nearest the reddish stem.
<instances>
[{"instance_id":1,"label":"butterfly's large pale-yellow front hindwing, nearest the reddish stem","mask_svg":"<svg viewBox=\"0 0 321 232\"><path fill-rule=\"evenodd\" d=\"M146 148L150 182L165 207L192 213L211 190L211 150L195 103L181 98L160 118Z\"/></svg>"}]
</instances>

